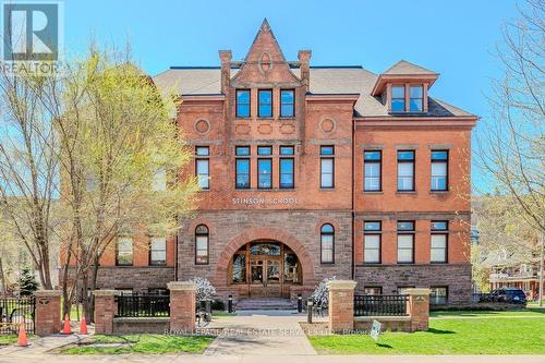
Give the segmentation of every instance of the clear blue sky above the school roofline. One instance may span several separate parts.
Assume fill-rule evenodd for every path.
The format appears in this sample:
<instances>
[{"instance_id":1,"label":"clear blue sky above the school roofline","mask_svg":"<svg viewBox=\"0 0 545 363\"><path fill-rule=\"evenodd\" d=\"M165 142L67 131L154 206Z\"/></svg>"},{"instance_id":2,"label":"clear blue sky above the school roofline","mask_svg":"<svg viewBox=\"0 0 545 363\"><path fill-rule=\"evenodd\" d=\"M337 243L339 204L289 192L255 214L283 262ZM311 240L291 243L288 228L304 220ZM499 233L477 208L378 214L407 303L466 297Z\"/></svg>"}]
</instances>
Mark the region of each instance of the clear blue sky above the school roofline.
<instances>
[{"instance_id":1,"label":"clear blue sky above the school roofline","mask_svg":"<svg viewBox=\"0 0 545 363\"><path fill-rule=\"evenodd\" d=\"M218 50L242 59L264 17L286 57L313 51L313 65L360 64L382 72L400 59L439 72L431 94L483 118L494 57L514 1L64 1L69 53L124 44L149 74L171 65L219 65ZM479 133L479 126L476 129ZM482 184L477 173L474 181Z\"/></svg>"}]
</instances>

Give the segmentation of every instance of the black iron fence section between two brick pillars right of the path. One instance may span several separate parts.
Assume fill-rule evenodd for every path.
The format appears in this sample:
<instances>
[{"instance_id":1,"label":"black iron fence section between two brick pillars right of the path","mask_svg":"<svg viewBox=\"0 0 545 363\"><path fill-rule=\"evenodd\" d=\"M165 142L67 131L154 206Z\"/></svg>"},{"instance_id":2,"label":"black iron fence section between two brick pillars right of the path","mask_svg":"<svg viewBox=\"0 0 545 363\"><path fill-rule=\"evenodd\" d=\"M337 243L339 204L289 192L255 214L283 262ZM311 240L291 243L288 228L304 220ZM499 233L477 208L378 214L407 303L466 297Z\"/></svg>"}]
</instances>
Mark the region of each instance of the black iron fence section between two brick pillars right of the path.
<instances>
[{"instance_id":1,"label":"black iron fence section between two brick pillars right of the path","mask_svg":"<svg viewBox=\"0 0 545 363\"><path fill-rule=\"evenodd\" d=\"M407 295L354 295L354 316L401 316L407 314Z\"/></svg>"}]
</instances>

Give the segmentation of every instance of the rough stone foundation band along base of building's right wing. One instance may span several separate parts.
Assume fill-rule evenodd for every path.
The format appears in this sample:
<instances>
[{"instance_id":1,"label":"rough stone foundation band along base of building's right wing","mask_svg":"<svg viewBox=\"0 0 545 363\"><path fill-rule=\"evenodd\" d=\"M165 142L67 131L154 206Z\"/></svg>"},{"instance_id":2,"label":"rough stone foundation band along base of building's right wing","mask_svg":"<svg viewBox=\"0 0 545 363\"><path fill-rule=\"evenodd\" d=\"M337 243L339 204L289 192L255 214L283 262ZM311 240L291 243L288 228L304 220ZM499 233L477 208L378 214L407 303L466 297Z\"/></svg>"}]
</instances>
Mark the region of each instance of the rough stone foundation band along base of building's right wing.
<instances>
[{"instance_id":1,"label":"rough stone foundation band along base of building's right wing","mask_svg":"<svg viewBox=\"0 0 545 363\"><path fill-rule=\"evenodd\" d=\"M356 291L382 287L383 294L397 293L398 287L447 287L449 303L471 301L471 265L373 265L355 267Z\"/></svg>"}]
</instances>

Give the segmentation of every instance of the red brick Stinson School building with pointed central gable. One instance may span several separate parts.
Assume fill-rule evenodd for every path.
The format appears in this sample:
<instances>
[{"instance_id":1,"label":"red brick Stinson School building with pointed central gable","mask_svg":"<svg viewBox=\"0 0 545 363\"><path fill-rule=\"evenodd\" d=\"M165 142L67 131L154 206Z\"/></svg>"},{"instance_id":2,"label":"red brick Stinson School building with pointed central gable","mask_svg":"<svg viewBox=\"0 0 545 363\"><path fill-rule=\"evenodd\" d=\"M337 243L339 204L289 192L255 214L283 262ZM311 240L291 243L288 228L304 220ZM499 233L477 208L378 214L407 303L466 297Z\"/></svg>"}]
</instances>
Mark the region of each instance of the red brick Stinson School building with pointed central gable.
<instances>
[{"instance_id":1,"label":"red brick Stinson School building with pointed central gable","mask_svg":"<svg viewBox=\"0 0 545 363\"><path fill-rule=\"evenodd\" d=\"M208 278L222 295L294 297L326 277L358 290L431 287L469 301L470 148L476 117L428 96L439 74L284 58L268 23L246 57L154 77L183 104L198 211L172 239L120 239L99 286ZM140 246L140 247L138 247ZM121 266L124 265L124 266Z\"/></svg>"}]
</instances>

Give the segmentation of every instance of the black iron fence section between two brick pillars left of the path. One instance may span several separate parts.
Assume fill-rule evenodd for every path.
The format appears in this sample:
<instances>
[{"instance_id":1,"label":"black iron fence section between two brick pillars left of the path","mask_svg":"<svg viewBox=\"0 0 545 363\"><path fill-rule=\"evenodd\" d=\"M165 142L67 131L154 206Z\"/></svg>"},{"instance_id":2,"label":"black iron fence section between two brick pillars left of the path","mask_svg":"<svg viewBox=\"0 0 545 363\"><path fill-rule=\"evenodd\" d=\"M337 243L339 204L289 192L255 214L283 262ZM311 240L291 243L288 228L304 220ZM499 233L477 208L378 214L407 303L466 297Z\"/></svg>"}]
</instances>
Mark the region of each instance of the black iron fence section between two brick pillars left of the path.
<instances>
[{"instance_id":1,"label":"black iron fence section between two brick pillars left of the path","mask_svg":"<svg viewBox=\"0 0 545 363\"><path fill-rule=\"evenodd\" d=\"M157 294L119 295L117 317L170 316L170 297Z\"/></svg>"}]
</instances>

